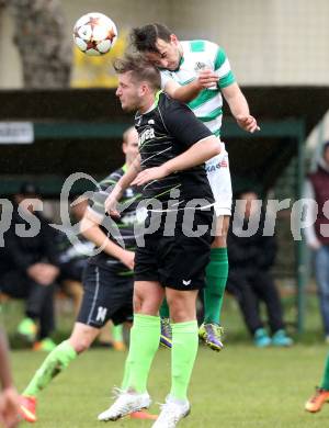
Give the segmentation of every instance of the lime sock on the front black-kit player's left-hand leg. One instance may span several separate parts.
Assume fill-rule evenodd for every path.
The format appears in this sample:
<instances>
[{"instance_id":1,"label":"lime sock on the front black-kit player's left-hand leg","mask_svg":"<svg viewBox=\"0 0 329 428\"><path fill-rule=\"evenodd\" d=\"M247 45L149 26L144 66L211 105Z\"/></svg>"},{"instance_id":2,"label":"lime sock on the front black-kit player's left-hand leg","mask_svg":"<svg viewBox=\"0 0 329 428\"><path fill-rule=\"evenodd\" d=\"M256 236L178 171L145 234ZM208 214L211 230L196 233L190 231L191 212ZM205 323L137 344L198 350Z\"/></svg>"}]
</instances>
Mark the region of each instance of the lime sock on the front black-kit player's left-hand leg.
<instances>
[{"instance_id":1,"label":"lime sock on the front black-kit player's left-hand leg","mask_svg":"<svg viewBox=\"0 0 329 428\"><path fill-rule=\"evenodd\" d=\"M137 393L147 391L148 373L159 348L159 341L160 317L135 314L123 390L133 388Z\"/></svg>"}]
</instances>

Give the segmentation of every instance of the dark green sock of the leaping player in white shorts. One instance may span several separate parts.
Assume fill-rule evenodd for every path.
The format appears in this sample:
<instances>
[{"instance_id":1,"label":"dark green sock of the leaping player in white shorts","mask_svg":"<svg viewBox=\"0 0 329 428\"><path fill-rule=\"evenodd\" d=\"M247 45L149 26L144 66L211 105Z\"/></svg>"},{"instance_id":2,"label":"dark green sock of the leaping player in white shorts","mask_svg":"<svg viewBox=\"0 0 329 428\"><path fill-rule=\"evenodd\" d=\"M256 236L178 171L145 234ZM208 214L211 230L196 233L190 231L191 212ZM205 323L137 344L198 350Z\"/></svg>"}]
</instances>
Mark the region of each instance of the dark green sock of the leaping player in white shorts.
<instances>
[{"instance_id":1,"label":"dark green sock of the leaping player in white shorts","mask_svg":"<svg viewBox=\"0 0 329 428\"><path fill-rule=\"evenodd\" d=\"M227 248L212 248L211 261L206 267L206 286L204 289L205 324L220 324L220 311L227 275Z\"/></svg>"}]
</instances>

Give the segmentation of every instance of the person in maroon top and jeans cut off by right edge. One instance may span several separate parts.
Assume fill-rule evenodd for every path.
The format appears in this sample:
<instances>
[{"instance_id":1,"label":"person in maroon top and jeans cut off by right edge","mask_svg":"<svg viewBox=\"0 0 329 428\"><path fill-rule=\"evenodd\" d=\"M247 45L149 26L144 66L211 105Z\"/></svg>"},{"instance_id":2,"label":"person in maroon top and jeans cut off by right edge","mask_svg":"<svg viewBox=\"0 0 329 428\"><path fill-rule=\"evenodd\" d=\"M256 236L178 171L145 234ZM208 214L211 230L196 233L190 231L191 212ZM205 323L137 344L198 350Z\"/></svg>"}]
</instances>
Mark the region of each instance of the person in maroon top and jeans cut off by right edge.
<instances>
[{"instance_id":1,"label":"person in maroon top and jeans cut off by right edge","mask_svg":"<svg viewBox=\"0 0 329 428\"><path fill-rule=\"evenodd\" d=\"M329 200L329 142L324 144L321 157L315 172L308 176L304 198L317 203L317 212L310 210L307 215L313 226L305 228L308 247L314 252L315 277L318 288L326 341L329 342L329 236L324 228L329 225L326 215L326 202ZM326 226L327 225L327 226Z\"/></svg>"}]
</instances>

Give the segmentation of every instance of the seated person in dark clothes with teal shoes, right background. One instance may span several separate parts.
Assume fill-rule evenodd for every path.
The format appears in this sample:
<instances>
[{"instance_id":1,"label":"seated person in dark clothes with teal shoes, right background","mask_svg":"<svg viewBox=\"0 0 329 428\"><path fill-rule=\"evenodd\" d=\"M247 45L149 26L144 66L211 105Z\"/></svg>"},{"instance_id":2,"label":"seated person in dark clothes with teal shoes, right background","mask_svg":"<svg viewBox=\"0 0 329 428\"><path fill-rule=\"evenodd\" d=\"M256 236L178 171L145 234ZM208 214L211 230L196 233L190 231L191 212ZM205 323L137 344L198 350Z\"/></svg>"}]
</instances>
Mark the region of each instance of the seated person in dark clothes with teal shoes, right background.
<instances>
[{"instance_id":1,"label":"seated person in dark clothes with teal shoes, right background","mask_svg":"<svg viewBox=\"0 0 329 428\"><path fill-rule=\"evenodd\" d=\"M238 199L240 204L241 201L245 202L241 204L243 206L241 213L243 227L242 230L235 230L232 225L229 228L228 260L230 269L227 290L236 296L256 346L261 348L271 343L290 346L293 341L285 333L280 296L270 273L276 254L275 238L263 236L265 215L260 210L261 206L257 204L257 193L247 191L240 193ZM257 225L256 232L246 234L245 232L250 229L252 225ZM266 306L272 339L261 319L260 302Z\"/></svg>"}]
</instances>

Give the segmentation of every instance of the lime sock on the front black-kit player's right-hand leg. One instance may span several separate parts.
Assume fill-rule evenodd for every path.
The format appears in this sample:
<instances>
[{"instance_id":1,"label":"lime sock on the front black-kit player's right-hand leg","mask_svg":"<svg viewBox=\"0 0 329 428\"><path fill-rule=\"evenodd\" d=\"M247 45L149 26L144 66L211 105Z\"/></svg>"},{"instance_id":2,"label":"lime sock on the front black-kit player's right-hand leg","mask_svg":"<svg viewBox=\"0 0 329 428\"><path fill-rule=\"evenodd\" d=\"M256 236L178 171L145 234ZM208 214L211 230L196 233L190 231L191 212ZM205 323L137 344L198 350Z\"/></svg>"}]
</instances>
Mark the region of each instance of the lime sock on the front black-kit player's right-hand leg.
<instances>
[{"instance_id":1,"label":"lime sock on the front black-kit player's right-hand leg","mask_svg":"<svg viewBox=\"0 0 329 428\"><path fill-rule=\"evenodd\" d=\"M188 387L197 353L197 322L172 324L171 391L177 399L188 399Z\"/></svg>"}]
</instances>

